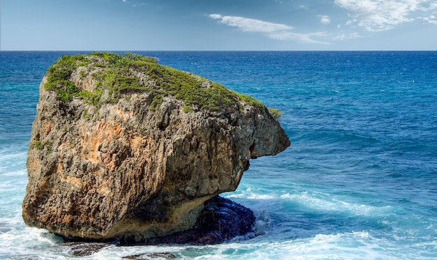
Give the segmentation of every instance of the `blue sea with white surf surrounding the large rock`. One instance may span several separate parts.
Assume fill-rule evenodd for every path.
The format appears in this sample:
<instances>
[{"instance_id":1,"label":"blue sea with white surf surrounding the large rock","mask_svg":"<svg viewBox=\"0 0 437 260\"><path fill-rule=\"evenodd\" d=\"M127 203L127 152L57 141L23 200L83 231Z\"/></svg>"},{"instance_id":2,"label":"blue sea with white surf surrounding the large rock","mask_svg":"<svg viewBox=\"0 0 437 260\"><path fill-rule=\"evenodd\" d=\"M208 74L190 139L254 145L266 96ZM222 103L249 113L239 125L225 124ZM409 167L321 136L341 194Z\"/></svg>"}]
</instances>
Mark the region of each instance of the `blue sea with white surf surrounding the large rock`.
<instances>
[{"instance_id":1,"label":"blue sea with white surf surrounding the large rock","mask_svg":"<svg viewBox=\"0 0 437 260\"><path fill-rule=\"evenodd\" d=\"M437 259L437 52L387 51L135 52L279 109L291 146L222 194L254 238L75 257L21 205L40 81L84 53L0 52L0 259Z\"/></svg>"}]
</instances>

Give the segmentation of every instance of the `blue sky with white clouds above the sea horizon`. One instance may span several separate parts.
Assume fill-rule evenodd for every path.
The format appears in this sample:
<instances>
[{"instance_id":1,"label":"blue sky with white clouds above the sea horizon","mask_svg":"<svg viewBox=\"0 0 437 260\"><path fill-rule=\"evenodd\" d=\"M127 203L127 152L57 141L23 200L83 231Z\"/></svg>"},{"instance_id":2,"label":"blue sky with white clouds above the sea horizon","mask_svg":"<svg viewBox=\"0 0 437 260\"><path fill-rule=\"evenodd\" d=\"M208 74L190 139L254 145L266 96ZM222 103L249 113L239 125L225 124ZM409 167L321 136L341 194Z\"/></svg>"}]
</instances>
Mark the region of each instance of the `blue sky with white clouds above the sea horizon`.
<instances>
[{"instance_id":1,"label":"blue sky with white clouds above the sea horizon","mask_svg":"<svg viewBox=\"0 0 437 260\"><path fill-rule=\"evenodd\" d=\"M1 50L436 50L437 0L0 0Z\"/></svg>"}]
</instances>

